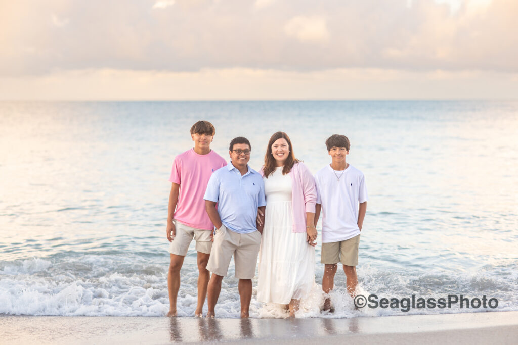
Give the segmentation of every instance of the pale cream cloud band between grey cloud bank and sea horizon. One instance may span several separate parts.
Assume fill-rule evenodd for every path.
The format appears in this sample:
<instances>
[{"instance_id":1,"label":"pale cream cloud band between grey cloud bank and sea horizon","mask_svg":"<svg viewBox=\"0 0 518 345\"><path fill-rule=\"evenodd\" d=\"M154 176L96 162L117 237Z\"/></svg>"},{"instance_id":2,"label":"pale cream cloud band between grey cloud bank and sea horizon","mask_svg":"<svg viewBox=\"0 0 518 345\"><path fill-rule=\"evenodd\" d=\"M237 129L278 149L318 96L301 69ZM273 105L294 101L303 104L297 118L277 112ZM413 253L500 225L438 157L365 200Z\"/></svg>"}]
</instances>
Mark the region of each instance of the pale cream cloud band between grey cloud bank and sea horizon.
<instances>
[{"instance_id":1,"label":"pale cream cloud band between grey cloud bank and sea horizon","mask_svg":"<svg viewBox=\"0 0 518 345\"><path fill-rule=\"evenodd\" d=\"M299 72L85 69L0 77L0 99L512 99L518 73L339 68Z\"/></svg>"}]
</instances>

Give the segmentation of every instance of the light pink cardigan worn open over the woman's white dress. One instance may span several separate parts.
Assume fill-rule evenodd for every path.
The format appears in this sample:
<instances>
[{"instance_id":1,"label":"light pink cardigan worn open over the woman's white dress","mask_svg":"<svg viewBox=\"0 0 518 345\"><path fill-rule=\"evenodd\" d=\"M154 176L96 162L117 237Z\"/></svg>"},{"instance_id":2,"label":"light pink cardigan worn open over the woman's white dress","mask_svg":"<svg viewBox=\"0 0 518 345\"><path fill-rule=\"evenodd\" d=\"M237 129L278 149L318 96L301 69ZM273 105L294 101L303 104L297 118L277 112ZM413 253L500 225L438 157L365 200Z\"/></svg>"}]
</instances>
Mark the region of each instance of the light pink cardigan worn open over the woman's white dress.
<instances>
[{"instance_id":1,"label":"light pink cardigan worn open over the woman's white dress","mask_svg":"<svg viewBox=\"0 0 518 345\"><path fill-rule=\"evenodd\" d=\"M260 173L264 177L263 168ZM292 176L293 232L306 232L306 212L315 212L315 180L303 162L293 164L290 175Z\"/></svg>"}]
</instances>

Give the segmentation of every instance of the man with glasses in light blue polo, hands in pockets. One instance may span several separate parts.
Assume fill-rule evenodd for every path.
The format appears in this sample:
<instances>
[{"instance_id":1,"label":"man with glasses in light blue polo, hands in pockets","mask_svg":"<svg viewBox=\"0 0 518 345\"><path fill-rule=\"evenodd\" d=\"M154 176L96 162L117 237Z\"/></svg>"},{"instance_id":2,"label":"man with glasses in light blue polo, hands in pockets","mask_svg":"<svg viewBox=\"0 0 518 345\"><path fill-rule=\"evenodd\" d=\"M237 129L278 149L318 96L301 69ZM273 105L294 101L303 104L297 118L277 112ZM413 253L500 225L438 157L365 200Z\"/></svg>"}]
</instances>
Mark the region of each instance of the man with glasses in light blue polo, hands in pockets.
<instances>
[{"instance_id":1,"label":"man with glasses in light blue polo, hands in pockets","mask_svg":"<svg viewBox=\"0 0 518 345\"><path fill-rule=\"evenodd\" d=\"M235 276L239 278L241 318L249 317L252 278L261 246L266 206L263 178L248 166L250 149L247 138L232 139L229 147L231 161L211 175L205 191L205 210L217 228L207 263L207 269L212 272L207 291L208 318L215 316L221 281L227 275L233 255ZM256 224L257 209L263 214L261 225Z\"/></svg>"}]
</instances>

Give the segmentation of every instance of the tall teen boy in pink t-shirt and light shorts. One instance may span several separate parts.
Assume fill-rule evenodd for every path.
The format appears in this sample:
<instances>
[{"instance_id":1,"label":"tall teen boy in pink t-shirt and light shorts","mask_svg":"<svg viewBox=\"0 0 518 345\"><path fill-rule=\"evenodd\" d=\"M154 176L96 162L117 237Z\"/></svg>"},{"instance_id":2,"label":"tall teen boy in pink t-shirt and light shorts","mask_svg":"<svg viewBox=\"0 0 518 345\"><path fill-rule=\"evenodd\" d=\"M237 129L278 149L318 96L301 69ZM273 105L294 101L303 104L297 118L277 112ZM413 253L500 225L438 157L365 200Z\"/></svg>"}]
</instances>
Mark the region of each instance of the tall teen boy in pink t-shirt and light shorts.
<instances>
[{"instance_id":1,"label":"tall teen boy in pink t-shirt and light shorts","mask_svg":"<svg viewBox=\"0 0 518 345\"><path fill-rule=\"evenodd\" d=\"M212 247L214 226L205 212L203 196L210 175L226 166L223 157L210 149L214 138L214 126L208 121L198 121L191 127L194 148L175 157L172 163L169 182L169 207L167 216L167 239L170 242L171 261L167 286L169 289L169 312L176 316L176 301L180 289L180 269L194 237L198 262L198 304L194 315L202 317L203 305L207 296L210 274L206 266Z\"/></svg>"}]
</instances>

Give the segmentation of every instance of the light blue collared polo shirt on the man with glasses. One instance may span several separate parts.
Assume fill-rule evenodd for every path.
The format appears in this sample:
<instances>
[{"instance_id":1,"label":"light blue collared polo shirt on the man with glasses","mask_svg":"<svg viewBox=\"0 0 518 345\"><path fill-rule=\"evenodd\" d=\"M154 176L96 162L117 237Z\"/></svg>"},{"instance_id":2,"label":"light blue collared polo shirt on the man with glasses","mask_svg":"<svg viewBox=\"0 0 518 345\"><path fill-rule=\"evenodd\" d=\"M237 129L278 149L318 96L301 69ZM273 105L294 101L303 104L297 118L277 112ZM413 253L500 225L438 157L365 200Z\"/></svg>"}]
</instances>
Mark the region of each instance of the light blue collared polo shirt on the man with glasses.
<instances>
[{"instance_id":1,"label":"light blue collared polo shirt on the man with glasses","mask_svg":"<svg viewBox=\"0 0 518 345\"><path fill-rule=\"evenodd\" d=\"M218 203L223 225L239 234L257 231L257 207L266 206L263 177L248 164L247 168L247 173L241 176L230 161L226 167L214 171L203 197Z\"/></svg>"}]
</instances>

